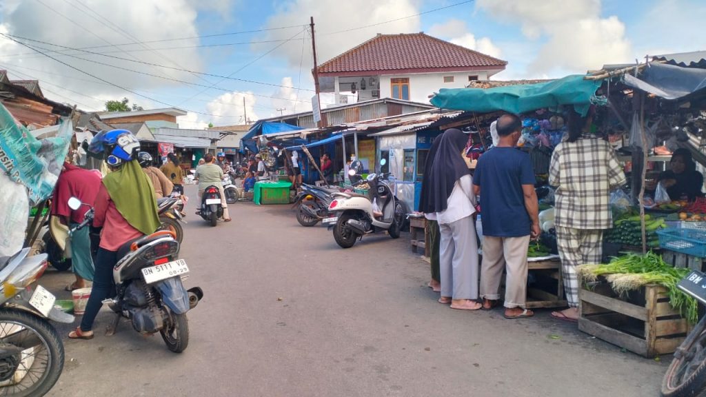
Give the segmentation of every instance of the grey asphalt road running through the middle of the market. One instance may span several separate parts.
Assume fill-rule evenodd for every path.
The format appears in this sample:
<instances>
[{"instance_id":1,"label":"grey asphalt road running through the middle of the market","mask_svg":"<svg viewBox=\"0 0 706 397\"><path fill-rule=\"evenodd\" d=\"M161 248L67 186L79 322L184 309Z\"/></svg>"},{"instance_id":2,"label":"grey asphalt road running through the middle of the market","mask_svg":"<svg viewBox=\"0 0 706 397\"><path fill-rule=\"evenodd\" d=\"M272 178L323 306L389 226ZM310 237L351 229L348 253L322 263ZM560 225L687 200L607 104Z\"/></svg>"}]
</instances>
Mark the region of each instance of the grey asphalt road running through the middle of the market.
<instances>
[{"instance_id":1,"label":"grey asphalt road running through the middle of the market","mask_svg":"<svg viewBox=\"0 0 706 397\"><path fill-rule=\"evenodd\" d=\"M104 309L93 340L65 338L50 396L658 395L670 357L621 352L546 310L506 320L501 309L437 303L408 234L344 250L324 227L299 226L289 206L237 203L217 227L193 208L181 257L187 286L205 298L189 312L186 352L127 321L104 336ZM61 298L70 280L48 272L42 284Z\"/></svg>"}]
</instances>

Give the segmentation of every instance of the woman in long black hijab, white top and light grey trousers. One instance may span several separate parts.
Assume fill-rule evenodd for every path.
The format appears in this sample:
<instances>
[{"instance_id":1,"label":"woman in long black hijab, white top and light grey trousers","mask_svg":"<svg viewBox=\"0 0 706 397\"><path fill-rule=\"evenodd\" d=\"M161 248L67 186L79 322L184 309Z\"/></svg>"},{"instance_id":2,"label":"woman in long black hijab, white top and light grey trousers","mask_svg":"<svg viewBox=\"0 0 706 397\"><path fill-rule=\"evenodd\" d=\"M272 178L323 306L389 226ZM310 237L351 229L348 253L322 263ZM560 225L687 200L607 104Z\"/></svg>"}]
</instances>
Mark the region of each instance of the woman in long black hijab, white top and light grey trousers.
<instances>
[{"instance_id":1,"label":"woman in long black hijab, white top and light grey trousers","mask_svg":"<svg viewBox=\"0 0 706 397\"><path fill-rule=\"evenodd\" d=\"M441 231L439 267L440 303L452 309L477 310L478 244L472 215L476 199L468 166L463 160L468 137L448 129L439 142L431 165L429 209L436 212Z\"/></svg>"}]
</instances>

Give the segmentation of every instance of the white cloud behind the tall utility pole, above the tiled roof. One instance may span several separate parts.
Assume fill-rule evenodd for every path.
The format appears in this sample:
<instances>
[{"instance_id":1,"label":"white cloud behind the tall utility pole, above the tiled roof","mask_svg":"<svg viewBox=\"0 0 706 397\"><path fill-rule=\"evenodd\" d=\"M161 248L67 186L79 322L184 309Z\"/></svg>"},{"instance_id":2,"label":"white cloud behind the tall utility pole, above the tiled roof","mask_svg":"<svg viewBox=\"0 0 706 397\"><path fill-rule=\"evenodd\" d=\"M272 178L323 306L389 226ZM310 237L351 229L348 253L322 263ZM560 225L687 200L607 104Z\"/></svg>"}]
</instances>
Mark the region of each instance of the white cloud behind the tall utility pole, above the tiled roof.
<instances>
[{"instance_id":1,"label":"white cloud behind the tall utility pole, above the tiled roof","mask_svg":"<svg viewBox=\"0 0 706 397\"><path fill-rule=\"evenodd\" d=\"M318 1L290 0L277 6L277 11L268 18L267 27L280 27L309 24L309 16L316 23L316 50L318 63L331 59L366 40L375 37L376 33L409 33L419 32L419 16L383 23L371 28L351 30L349 32L332 34L349 28L359 28L362 25L382 23L402 16L412 16L419 13L420 0L357 0L357 1ZM273 30L263 36L263 40L286 40L297 32L297 28ZM300 36L301 37L301 36ZM302 44L303 57L302 57ZM273 44L255 45L256 52L265 52ZM313 66L311 59L311 42L309 35L302 43L292 40L273 52L285 57L289 66L309 73Z\"/></svg>"}]
</instances>

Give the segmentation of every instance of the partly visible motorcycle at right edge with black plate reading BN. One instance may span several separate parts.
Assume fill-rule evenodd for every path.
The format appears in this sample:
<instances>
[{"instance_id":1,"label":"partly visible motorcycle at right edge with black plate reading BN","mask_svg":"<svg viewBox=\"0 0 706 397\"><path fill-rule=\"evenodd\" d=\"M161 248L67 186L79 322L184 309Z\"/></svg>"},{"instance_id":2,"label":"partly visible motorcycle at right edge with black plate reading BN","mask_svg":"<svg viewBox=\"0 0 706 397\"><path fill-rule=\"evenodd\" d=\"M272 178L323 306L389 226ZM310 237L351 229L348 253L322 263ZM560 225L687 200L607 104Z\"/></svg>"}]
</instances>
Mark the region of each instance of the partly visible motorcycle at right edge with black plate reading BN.
<instances>
[{"instance_id":1,"label":"partly visible motorcycle at right edge with black plate reading BN","mask_svg":"<svg viewBox=\"0 0 706 397\"><path fill-rule=\"evenodd\" d=\"M706 273L692 271L677 287L706 304ZM706 316L674 352L662 379L663 397L703 396L706 391Z\"/></svg>"}]
</instances>

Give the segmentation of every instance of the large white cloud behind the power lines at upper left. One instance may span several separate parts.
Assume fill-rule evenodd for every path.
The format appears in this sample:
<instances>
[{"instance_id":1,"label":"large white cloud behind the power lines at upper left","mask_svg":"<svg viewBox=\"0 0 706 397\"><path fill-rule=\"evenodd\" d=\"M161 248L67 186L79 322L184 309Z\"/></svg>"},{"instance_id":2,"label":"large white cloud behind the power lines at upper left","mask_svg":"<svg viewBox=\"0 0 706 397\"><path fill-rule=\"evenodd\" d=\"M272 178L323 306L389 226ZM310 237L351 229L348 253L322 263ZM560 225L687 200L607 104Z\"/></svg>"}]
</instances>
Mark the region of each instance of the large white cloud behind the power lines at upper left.
<instances>
[{"instance_id":1,"label":"large white cloud behind the power lines at upper left","mask_svg":"<svg viewBox=\"0 0 706 397\"><path fill-rule=\"evenodd\" d=\"M6 6L0 7L0 31L11 35L28 37L34 40L64 45L66 47L80 48L92 46L109 46L138 40L164 40L179 37L191 37L198 35L196 27L196 16L199 9L208 8L210 10L225 12L229 9L229 4L236 0L208 0L196 6L196 2L189 0L141 0L131 1L129 5L124 2L110 0L83 0L82 4L88 6L92 11L100 14L104 19L88 11L81 4L73 4L69 1L16 1L11 0ZM44 5L46 4L46 6ZM51 9L49 8L51 7ZM197 8L198 7L198 8ZM68 20L61 16L63 14ZM51 21L50 23L48 21ZM125 32L129 33L126 34ZM57 34L61 32L61 34ZM59 64L52 59L42 55L33 54L31 49L12 43L8 45L8 40L0 38L0 60L10 71L13 66L25 66L40 70L26 71L17 69L20 72L29 74L41 81L49 81L56 85L61 85L71 90L79 91L95 97L110 97L119 99L128 97L131 102L136 102L145 107L150 100L138 95L127 93L104 83L77 83L76 78L95 80L85 73L71 69L68 66ZM178 44L174 44L178 43ZM171 43L170 46L193 46L198 45L198 39L179 40ZM45 49L62 50L59 47L28 42L33 47L44 47ZM150 48L158 48L160 43L152 43ZM185 69L201 71L203 64L196 48L183 48L178 50L160 50L159 54L154 51L145 50L140 45L126 45L119 47L101 47L92 49L95 52L114 52L111 55L128 59L139 59L140 61L164 64L174 67L184 67ZM122 52L121 50L124 50ZM131 52L131 50L143 50ZM44 51L44 50L42 50ZM92 54L72 52L78 57L100 61L104 64L111 64L127 69L134 69L145 73L152 73L158 76L176 78L183 81L196 81L196 77L191 73L172 71L143 64L136 64L130 61L110 59ZM23 55L18 55L23 54ZM145 76L131 71L124 71L84 61L66 55L49 53L52 57L71 64L76 68L91 73L92 75L104 78L107 81L120 85L131 90L149 90L150 88L167 88L183 85L162 78ZM177 64L179 66L177 66ZM52 77L47 77L43 72L55 73ZM62 75L62 76L56 76ZM203 83L203 82L201 82ZM194 88L196 93L196 88ZM68 94L84 102L86 98ZM90 101L90 100L88 100ZM169 102L168 100L165 102ZM95 101L91 101L95 104ZM164 106L155 104L157 106Z\"/></svg>"}]
</instances>

